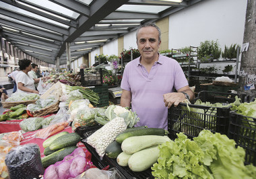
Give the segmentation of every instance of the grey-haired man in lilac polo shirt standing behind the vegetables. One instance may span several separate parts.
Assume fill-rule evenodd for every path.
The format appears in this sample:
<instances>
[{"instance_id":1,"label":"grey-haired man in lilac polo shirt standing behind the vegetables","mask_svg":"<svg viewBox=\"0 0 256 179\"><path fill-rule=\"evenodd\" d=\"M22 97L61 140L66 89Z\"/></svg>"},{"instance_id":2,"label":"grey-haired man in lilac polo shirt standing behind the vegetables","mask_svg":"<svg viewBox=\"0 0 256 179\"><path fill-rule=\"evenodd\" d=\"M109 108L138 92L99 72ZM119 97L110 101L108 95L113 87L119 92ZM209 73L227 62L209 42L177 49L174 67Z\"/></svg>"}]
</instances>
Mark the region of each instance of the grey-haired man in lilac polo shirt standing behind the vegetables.
<instances>
[{"instance_id":1,"label":"grey-haired man in lilac polo shirt standing behind the vegetables","mask_svg":"<svg viewBox=\"0 0 256 179\"><path fill-rule=\"evenodd\" d=\"M131 105L140 118L137 126L167 129L168 108L186 98L192 100L194 94L179 63L158 53L161 44L158 26L140 26L136 42L141 57L125 66L121 106Z\"/></svg>"}]
</instances>

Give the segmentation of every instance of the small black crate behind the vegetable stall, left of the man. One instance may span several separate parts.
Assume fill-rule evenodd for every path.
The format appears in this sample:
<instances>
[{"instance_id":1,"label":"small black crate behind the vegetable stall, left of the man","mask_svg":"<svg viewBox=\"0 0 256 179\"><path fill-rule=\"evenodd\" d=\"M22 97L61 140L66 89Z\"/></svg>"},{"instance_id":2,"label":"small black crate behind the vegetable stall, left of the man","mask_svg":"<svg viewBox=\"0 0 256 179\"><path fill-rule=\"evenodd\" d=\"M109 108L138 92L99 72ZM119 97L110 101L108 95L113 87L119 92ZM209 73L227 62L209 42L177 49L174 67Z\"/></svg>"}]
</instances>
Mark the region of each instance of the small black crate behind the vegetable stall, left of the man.
<instances>
[{"instance_id":1,"label":"small black crate behind the vegetable stall, left of the man","mask_svg":"<svg viewBox=\"0 0 256 179\"><path fill-rule=\"evenodd\" d=\"M102 69L80 69L80 75L80 82L82 86L102 85L103 83Z\"/></svg>"}]
</instances>

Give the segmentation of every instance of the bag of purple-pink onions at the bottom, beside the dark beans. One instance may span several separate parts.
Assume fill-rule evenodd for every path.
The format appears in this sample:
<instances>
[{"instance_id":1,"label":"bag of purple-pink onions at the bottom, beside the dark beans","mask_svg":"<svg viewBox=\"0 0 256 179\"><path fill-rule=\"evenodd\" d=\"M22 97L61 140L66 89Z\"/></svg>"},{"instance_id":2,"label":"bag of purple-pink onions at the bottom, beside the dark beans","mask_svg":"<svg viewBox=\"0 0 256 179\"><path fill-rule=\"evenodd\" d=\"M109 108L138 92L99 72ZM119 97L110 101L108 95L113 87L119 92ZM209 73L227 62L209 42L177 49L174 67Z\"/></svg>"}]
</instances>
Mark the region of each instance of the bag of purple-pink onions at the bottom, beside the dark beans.
<instances>
[{"instance_id":1,"label":"bag of purple-pink onions at the bottom, beside the dark beans","mask_svg":"<svg viewBox=\"0 0 256 179\"><path fill-rule=\"evenodd\" d=\"M70 155L64 157L60 162L46 168L44 179L66 179L75 178L82 172L88 170L92 162L86 161L86 153L82 147L75 149Z\"/></svg>"}]
</instances>

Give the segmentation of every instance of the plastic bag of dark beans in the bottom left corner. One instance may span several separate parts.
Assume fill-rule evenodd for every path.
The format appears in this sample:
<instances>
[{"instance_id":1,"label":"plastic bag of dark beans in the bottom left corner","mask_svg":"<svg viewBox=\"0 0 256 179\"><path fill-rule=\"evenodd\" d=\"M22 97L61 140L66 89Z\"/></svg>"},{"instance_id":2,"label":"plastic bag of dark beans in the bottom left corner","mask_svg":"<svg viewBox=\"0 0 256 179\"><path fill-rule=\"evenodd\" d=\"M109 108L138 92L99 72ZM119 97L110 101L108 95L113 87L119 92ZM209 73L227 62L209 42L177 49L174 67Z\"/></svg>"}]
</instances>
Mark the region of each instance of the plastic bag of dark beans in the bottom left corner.
<instances>
[{"instance_id":1,"label":"plastic bag of dark beans in the bottom left corner","mask_svg":"<svg viewBox=\"0 0 256 179\"><path fill-rule=\"evenodd\" d=\"M10 178L39 178L44 174L40 149L35 143L14 147L5 156Z\"/></svg>"}]
</instances>

